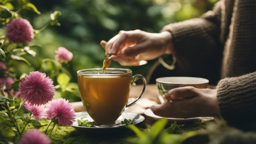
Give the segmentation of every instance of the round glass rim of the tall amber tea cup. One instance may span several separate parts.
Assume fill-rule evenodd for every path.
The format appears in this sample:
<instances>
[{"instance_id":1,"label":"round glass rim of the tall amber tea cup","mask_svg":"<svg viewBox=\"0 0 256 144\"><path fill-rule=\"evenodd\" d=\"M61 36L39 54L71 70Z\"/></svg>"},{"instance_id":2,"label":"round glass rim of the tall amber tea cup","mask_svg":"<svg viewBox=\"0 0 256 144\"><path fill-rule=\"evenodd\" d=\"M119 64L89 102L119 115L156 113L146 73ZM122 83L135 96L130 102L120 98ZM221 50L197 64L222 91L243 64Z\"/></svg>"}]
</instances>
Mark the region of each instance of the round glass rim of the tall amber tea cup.
<instances>
[{"instance_id":1,"label":"round glass rim of the tall amber tea cup","mask_svg":"<svg viewBox=\"0 0 256 144\"><path fill-rule=\"evenodd\" d=\"M90 70L103 70L103 68L91 68L91 69L83 69L83 70L78 70L77 74L83 75L83 76L95 76L96 74L84 74L81 73L81 71L90 71ZM106 70L124 70L124 71L128 71L125 73L121 73L121 74L97 74L97 76L113 76L113 75L124 75L124 74L130 74L132 73L132 70L130 69L123 69L123 68L106 68ZM101 71L102 72L102 71Z\"/></svg>"}]
</instances>

